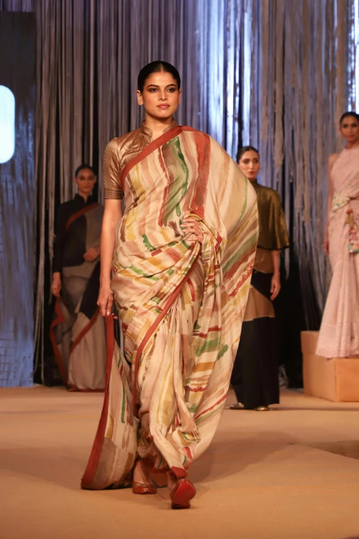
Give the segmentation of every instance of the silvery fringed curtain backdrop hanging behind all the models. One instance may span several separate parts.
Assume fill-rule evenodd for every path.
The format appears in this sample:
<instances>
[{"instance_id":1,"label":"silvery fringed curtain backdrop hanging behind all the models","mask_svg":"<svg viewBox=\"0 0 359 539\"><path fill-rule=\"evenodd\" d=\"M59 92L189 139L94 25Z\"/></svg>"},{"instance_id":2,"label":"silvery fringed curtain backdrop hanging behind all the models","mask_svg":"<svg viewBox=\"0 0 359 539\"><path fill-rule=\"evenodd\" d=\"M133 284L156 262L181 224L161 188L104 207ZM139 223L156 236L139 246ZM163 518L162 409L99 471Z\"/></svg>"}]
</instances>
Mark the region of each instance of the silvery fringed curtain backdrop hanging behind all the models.
<instances>
[{"instance_id":1,"label":"silvery fringed curtain backdrop hanging behind all the models","mask_svg":"<svg viewBox=\"0 0 359 539\"><path fill-rule=\"evenodd\" d=\"M74 169L98 158L102 200L105 145L138 127L137 74L154 59L182 75L179 123L234 158L239 143L259 147L260 181L281 193L292 231L305 321L318 324L326 163L342 145L340 114L356 105L358 0L0 0L0 9L37 20L36 357L55 200L72 198Z\"/></svg>"}]
</instances>

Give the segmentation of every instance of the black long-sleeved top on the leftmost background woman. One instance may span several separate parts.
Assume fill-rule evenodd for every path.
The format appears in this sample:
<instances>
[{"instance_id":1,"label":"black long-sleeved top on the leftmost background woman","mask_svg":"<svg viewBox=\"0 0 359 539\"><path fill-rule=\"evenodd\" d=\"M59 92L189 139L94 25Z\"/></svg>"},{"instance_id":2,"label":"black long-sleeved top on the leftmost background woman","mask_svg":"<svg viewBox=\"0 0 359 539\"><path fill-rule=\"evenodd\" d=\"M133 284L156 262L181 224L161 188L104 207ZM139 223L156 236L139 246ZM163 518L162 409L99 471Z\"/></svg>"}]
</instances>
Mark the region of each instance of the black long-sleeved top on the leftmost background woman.
<instances>
[{"instance_id":1,"label":"black long-sleeved top on the leftmost background woman","mask_svg":"<svg viewBox=\"0 0 359 539\"><path fill-rule=\"evenodd\" d=\"M85 235L80 234L81 237L83 237L83 241L80 243L81 246L78 245L78 237L74 237L74 231L72 231L72 226L69 227L69 229L66 231L66 223L69 220L69 218L74 215L74 213L77 213L78 211L82 210L86 206L89 206L89 204L94 204L94 199L89 196L87 198L87 202L85 202L85 198L83 198L81 195L76 194L75 198L73 200L69 200L68 202L64 202L61 204L61 206L58 208L58 214L57 214L57 220L56 220L56 242L55 242L55 249L54 249L54 264L52 271L54 272L60 272L62 271L63 266L78 266L83 262L83 255L85 254ZM76 220L78 221L78 220ZM78 223L80 224L80 223ZM84 220L85 225L85 220ZM70 253L73 253L75 256L70 256L73 260L65 260L67 257L64 257L65 252L65 245L68 242L72 242L72 240L76 240L76 249L68 249Z\"/></svg>"}]
</instances>

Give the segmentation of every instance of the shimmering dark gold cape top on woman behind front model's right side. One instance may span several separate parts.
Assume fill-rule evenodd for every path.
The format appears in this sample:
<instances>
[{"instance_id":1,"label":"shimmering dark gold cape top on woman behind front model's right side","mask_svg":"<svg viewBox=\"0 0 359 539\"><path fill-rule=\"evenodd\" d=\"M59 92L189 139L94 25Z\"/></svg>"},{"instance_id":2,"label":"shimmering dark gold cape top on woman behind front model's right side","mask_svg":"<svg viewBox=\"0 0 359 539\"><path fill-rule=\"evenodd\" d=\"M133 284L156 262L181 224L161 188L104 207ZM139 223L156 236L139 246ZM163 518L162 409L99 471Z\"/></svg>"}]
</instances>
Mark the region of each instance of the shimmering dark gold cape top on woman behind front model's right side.
<instances>
[{"instance_id":1,"label":"shimmering dark gold cape top on woman behind front model's right side","mask_svg":"<svg viewBox=\"0 0 359 539\"><path fill-rule=\"evenodd\" d=\"M257 180L252 182L252 186L257 193L258 246L270 251L288 247L290 242L279 194L270 187L260 185Z\"/></svg>"}]
</instances>

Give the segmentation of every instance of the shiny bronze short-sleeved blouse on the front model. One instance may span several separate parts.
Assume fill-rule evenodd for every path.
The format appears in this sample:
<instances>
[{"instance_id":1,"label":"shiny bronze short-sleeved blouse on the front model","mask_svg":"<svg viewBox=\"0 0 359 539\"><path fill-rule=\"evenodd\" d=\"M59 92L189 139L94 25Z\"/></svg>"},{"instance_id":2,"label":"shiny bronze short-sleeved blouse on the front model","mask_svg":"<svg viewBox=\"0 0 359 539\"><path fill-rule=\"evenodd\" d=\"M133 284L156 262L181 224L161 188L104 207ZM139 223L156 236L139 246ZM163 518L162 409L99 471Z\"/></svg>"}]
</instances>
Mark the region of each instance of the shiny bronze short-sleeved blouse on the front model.
<instances>
[{"instance_id":1,"label":"shiny bronze short-sleeved blouse on the front model","mask_svg":"<svg viewBox=\"0 0 359 539\"><path fill-rule=\"evenodd\" d=\"M177 122L172 121L163 130L164 133L170 129L177 127ZM132 159L134 159L140 151L149 145L153 140L153 133L149 127L142 125L139 129L131 131L124 136L113 138L105 149L103 158L103 185L105 198L121 199L123 191L121 187L121 171Z\"/></svg>"}]
</instances>

